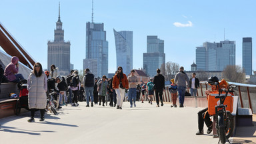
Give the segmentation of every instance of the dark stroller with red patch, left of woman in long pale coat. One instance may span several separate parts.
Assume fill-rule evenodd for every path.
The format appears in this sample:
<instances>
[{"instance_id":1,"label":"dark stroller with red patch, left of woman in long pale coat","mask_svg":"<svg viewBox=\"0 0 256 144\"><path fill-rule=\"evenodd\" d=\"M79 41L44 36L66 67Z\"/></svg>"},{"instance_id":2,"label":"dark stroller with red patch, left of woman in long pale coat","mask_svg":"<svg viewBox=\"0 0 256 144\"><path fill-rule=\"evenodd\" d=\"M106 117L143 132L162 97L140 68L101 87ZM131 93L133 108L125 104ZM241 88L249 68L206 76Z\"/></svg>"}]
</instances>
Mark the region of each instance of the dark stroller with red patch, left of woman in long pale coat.
<instances>
[{"instance_id":1,"label":"dark stroller with red patch, left of woman in long pale coat","mask_svg":"<svg viewBox=\"0 0 256 144\"><path fill-rule=\"evenodd\" d=\"M19 115L21 113L21 108L25 108L29 111L29 91L27 90L27 80L22 79L21 81L19 81L17 86L19 88L19 100L16 103L15 114Z\"/></svg>"}]
</instances>

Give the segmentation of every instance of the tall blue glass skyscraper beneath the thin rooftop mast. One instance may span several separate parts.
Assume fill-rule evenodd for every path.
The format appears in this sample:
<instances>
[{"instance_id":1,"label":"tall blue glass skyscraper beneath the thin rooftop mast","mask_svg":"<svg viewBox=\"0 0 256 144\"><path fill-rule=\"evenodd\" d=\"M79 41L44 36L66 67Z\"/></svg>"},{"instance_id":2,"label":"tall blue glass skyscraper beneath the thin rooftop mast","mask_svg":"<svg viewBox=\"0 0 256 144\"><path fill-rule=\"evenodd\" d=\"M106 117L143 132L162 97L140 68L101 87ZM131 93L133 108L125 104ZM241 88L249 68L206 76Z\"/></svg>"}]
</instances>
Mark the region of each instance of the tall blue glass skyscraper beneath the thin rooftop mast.
<instances>
[{"instance_id":1,"label":"tall blue glass skyscraper beneath the thin rooftop mast","mask_svg":"<svg viewBox=\"0 0 256 144\"><path fill-rule=\"evenodd\" d=\"M109 43L106 40L104 23L86 23L86 59L97 60L96 77L108 75ZM86 69L87 67L83 67Z\"/></svg>"}]
</instances>

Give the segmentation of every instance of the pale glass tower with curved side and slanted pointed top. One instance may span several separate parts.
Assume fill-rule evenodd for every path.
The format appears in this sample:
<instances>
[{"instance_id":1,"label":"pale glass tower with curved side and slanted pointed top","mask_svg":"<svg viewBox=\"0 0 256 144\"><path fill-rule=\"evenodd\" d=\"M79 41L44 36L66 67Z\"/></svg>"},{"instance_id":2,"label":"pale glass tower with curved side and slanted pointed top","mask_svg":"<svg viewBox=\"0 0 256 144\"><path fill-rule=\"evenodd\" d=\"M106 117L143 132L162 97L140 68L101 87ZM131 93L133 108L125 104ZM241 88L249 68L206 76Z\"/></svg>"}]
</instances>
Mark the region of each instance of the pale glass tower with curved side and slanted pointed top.
<instances>
[{"instance_id":1,"label":"pale glass tower with curved side and slanted pointed top","mask_svg":"<svg viewBox=\"0 0 256 144\"><path fill-rule=\"evenodd\" d=\"M133 31L115 31L115 48L117 67L123 67L123 73L128 75L133 69Z\"/></svg>"}]
</instances>

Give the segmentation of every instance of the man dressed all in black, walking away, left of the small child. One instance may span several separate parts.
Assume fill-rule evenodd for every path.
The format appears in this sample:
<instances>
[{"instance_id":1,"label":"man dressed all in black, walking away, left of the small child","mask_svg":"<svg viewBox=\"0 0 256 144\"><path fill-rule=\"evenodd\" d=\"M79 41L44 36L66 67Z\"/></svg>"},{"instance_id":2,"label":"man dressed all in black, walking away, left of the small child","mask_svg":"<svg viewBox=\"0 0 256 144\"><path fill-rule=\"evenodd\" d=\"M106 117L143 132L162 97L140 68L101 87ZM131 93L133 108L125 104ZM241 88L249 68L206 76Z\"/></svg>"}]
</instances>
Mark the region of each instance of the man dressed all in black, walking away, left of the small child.
<instances>
[{"instance_id":1,"label":"man dressed all in black, walking away, left of the small child","mask_svg":"<svg viewBox=\"0 0 256 144\"><path fill-rule=\"evenodd\" d=\"M155 75L153 81L153 83L155 84L155 99L157 101L157 107L159 107L159 97L161 101L161 106L163 106L163 90L165 89L165 77L163 77L163 75L161 75L160 73L161 70L157 69L157 75Z\"/></svg>"}]
</instances>

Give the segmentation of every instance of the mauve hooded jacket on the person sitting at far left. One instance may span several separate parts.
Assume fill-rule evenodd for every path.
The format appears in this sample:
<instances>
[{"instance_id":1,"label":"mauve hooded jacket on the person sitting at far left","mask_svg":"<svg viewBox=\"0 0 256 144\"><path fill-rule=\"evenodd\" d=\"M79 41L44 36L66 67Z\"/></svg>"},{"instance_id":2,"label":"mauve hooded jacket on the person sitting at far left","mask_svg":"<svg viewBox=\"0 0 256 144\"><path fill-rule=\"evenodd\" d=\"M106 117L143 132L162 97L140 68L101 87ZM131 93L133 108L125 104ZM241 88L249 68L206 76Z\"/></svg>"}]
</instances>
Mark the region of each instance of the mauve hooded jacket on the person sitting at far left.
<instances>
[{"instance_id":1,"label":"mauve hooded jacket on the person sitting at far left","mask_svg":"<svg viewBox=\"0 0 256 144\"><path fill-rule=\"evenodd\" d=\"M16 67L16 64L18 63L19 58L16 56L13 56L11 58L11 63L9 63L7 65L7 67L5 67L5 77L7 77L7 79L9 81L14 81L16 79L15 74L19 72L19 67Z\"/></svg>"}]
</instances>

